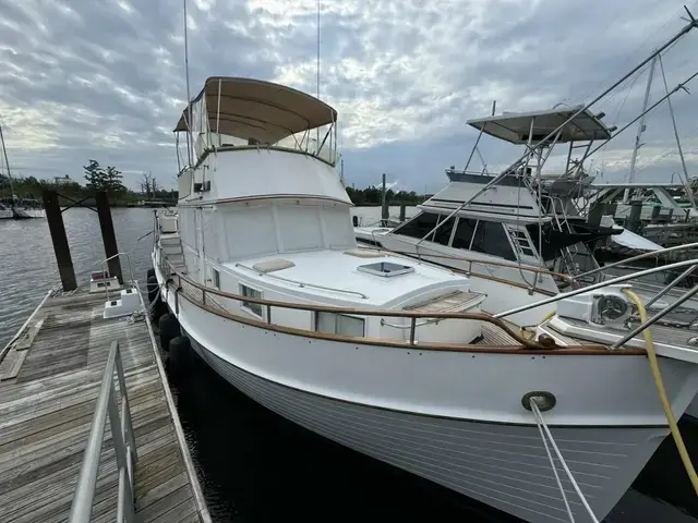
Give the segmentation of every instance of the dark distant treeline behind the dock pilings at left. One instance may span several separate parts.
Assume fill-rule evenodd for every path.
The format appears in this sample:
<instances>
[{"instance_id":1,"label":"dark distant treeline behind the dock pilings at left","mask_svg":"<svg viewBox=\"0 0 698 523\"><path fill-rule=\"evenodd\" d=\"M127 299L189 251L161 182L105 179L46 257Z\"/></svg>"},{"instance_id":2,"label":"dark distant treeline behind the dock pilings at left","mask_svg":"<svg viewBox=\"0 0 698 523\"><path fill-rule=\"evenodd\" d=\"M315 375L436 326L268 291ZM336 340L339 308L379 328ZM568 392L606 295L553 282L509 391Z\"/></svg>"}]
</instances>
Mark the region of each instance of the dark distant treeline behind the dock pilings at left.
<instances>
[{"instance_id":1,"label":"dark distant treeline behind the dock pilings at left","mask_svg":"<svg viewBox=\"0 0 698 523\"><path fill-rule=\"evenodd\" d=\"M83 166L83 171L84 185L72 180L68 174L52 180L12 177L12 184L10 184L9 177L0 173L0 199L8 200L12 197L10 192L12 185L14 196L19 199L40 200L45 190L56 191L61 205L71 205L73 202L83 199L84 205L93 205L97 191L106 191L111 205L117 206L134 205L145 199L177 200L177 192L165 191L149 172L143 174L143 180L147 180L147 183L142 182L142 193L137 193L123 185L121 171L112 166L103 167L98 161L91 159L87 166Z\"/></svg>"}]
</instances>

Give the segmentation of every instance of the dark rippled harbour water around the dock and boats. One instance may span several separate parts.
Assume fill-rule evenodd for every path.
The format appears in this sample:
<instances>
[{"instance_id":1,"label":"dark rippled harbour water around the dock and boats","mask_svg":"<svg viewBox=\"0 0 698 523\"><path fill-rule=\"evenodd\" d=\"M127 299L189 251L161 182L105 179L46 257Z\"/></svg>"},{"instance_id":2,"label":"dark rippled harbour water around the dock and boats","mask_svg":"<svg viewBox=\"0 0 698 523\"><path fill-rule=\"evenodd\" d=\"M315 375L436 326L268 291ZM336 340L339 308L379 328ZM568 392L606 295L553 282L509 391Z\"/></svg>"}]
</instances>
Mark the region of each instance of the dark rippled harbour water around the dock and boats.
<instances>
[{"instance_id":1,"label":"dark rippled harbour water around the dock and boats","mask_svg":"<svg viewBox=\"0 0 698 523\"><path fill-rule=\"evenodd\" d=\"M79 281L86 282L104 258L97 216L88 209L63 216ZM152 230L153 212L112 209L112 216L119 248L133 254L143 280L152 238L136 240ZM46 221L0 221L0 346L57 280ZM215 521L519 521L286 422L201 362L172 387ZM681 427L698 455L698 428ZM698 515L698 502L669 438L605 521L697 522L689 513Z\"/></svg>"}]
</instances>

